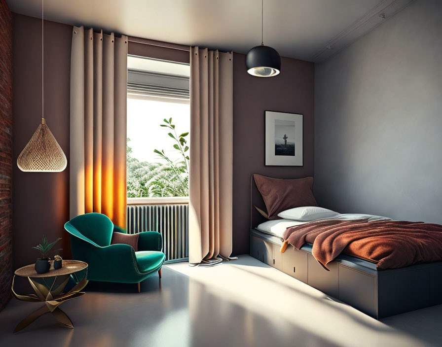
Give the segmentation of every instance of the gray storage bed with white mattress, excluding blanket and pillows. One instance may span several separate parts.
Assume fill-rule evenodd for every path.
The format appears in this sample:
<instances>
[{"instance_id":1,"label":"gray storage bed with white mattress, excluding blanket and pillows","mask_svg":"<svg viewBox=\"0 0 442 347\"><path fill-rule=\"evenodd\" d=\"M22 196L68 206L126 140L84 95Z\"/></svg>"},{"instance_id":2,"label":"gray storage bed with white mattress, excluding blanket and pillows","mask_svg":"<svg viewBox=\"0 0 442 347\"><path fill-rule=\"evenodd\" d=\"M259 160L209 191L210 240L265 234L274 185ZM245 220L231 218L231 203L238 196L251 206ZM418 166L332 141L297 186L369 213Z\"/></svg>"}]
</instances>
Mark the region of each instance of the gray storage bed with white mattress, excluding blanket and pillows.
<instances>
[{"instance_id":1,"label":"gray storage bed with white mattress, excluding blanket and pillows","mask_svg":"<svg viewBox=\"0 0 442 347\"><path fill-rule=\"evenodd\" d=\"M312 255L312 244L299 249L288 245L284 231L302 222L267 220L257 213L256 187L251 188L250 254L320 291L374 318L383 318L442 304L442 262L420 263L398 269L380 270L374 262L341 253L327 264L330 271ZM254 196L255 194L255 196ZM389 220L373 215L344 214L335 218Z\"/></svg>"}]
</instances>

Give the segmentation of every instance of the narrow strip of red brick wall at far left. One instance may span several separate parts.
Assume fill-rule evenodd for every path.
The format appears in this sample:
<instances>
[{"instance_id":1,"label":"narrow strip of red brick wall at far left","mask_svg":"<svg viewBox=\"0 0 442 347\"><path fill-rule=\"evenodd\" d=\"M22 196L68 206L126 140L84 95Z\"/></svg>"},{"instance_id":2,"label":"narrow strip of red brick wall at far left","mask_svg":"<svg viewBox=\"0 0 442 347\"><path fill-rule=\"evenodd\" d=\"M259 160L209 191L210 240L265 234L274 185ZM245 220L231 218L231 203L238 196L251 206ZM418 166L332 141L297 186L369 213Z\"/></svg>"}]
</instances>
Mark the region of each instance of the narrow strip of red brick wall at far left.
<instances>
[{"instance_id":1,"label":"narrow strip of red brick wall at far left","mask_svg":"<svg viewBox=\"0 0 442 347\"><path fill-rule=\"evenodd\" d=\"M0 310L12 280L12 14L0 0Z\"/></svg>"}]
</instances>

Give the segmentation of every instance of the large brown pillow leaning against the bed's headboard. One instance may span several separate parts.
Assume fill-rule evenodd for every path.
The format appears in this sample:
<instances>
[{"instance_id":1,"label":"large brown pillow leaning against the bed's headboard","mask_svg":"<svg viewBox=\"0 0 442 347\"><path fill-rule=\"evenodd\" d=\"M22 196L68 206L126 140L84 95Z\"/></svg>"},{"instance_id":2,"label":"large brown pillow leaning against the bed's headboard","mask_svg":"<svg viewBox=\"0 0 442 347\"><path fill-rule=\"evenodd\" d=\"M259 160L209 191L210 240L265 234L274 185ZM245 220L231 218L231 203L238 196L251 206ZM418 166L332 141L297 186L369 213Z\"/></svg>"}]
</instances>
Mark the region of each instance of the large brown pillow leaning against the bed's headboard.
<instances>
[{"instance_id":1,"label":"large brown pillow leaning against the bed's headboard","mask_svg":"<svg viewBox=\"0 0 442 347\"><path fill-rule=\"evenodd\" d=\"M313 177L281 179L254 174L253 178L267 208L268 219L278 219L278 213L289 208L318 206L312 192Z\"/></svg>"}]
</instances>

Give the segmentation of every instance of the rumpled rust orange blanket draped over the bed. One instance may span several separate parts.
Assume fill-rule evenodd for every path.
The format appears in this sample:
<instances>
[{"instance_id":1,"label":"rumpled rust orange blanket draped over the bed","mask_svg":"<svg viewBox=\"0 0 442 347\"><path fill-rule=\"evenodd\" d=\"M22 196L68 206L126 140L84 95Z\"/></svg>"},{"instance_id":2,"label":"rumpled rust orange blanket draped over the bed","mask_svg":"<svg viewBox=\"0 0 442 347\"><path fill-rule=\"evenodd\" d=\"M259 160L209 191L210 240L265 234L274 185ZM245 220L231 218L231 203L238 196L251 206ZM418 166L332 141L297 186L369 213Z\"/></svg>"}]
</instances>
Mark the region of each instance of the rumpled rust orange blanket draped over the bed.
<instances>
[{"instance_id":1,"label":"rumpled rust orange blanket draped over the bed","mask_svg":"<svg viewBox=\"0 0 442 347\"><path fill-rule=\"evenodd\" d=\"M378 269L442 260L442 225L423 222L325 219L287 228L284 240L312 254L326 269L341 252L376 263Z\"/></svg>"}]
</instances>

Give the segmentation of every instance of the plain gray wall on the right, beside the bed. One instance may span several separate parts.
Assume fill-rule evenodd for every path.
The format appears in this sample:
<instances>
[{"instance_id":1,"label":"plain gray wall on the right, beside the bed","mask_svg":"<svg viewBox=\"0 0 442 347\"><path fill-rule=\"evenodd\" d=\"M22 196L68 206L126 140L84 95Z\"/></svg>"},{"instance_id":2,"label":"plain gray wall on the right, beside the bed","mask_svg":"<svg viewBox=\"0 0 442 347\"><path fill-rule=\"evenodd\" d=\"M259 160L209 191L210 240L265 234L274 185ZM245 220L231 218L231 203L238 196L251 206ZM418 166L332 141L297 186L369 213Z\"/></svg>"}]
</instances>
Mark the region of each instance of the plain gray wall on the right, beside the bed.
<instances>
[{"instance_id":1,"label":"plain gray wall on the right, beside the bed","mask_svg":"<svg viewBox=\"0 0 442 347\"><path fill-rule=\"evenodd\" d=\"M416 0L315 66L315 196L442 223L442 1Z\"/></svg>"}]
</instances>

